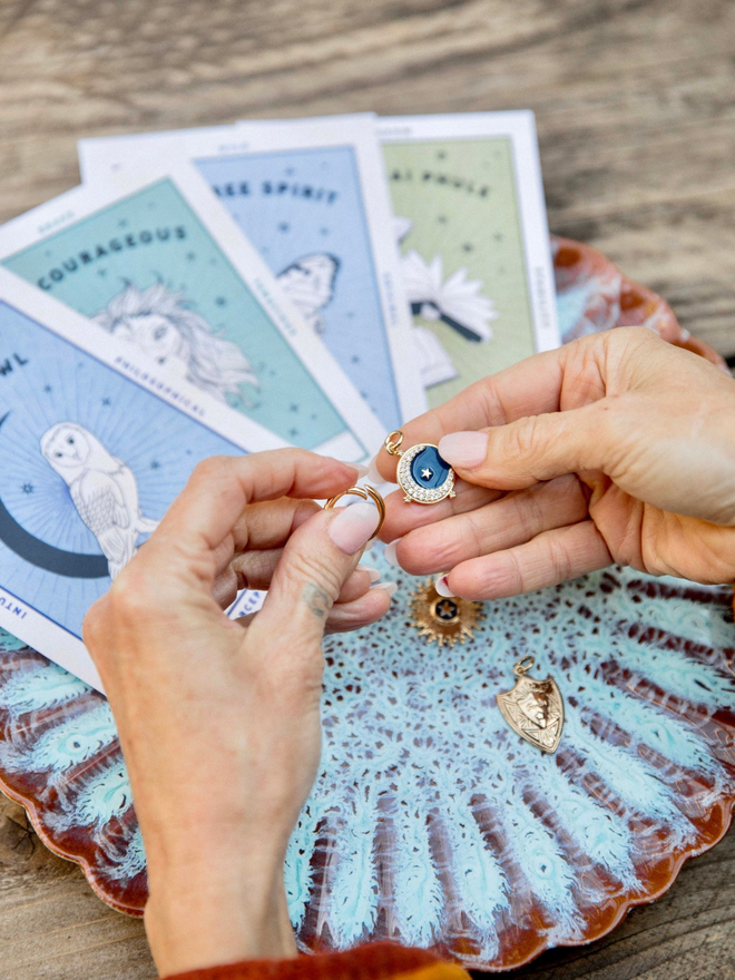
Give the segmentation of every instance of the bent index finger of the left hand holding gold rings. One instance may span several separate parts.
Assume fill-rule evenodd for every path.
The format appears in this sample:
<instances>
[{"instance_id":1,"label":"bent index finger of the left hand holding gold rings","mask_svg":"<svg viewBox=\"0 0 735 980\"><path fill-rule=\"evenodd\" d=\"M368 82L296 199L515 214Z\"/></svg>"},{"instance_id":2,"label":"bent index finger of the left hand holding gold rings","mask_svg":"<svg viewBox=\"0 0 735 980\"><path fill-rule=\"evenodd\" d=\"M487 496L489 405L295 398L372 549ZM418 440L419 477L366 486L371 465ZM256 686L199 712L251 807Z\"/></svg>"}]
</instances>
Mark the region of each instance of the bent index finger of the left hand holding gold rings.
<instances>
[{"instance_id":1,"label":"bent index finger of the left hand holding gold rings","mask_svg":"<svg viewBox=\"0 0 735 980\"><path fill-rule=\"evenodd\" d=\"M248 503L280 497L332 497L352 487L361 470L304 449L276 449L200 462L154 532L187 553L212 552L232 535Z\"/></svg>"}]
</instances>

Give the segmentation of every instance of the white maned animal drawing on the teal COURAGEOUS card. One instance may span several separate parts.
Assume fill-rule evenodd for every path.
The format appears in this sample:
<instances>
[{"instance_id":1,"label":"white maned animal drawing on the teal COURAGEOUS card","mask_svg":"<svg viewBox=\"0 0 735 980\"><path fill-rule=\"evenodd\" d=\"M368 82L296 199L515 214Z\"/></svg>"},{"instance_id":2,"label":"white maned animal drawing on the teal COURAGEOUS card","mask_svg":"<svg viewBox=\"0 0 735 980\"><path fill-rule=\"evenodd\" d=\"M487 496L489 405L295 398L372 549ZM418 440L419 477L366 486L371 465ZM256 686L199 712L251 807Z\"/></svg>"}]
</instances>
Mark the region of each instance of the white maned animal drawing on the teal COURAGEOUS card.
<instances>
[{"instance_id":1,"label":"white maned animal drawing on the teal COURAGEOUS card","mask_svg":"<svg viewBox=\"0 0 735 980\"><path fill-rule=\"evenodd\" d=\"M261 388L251 362L237 344L217 334L204 316L189 308L182 293L163 283L147 290L127 283L92 318L219 401L231 395L247 409L255 406L242 389L244 384Z\"/></svg>"}]
</instances>

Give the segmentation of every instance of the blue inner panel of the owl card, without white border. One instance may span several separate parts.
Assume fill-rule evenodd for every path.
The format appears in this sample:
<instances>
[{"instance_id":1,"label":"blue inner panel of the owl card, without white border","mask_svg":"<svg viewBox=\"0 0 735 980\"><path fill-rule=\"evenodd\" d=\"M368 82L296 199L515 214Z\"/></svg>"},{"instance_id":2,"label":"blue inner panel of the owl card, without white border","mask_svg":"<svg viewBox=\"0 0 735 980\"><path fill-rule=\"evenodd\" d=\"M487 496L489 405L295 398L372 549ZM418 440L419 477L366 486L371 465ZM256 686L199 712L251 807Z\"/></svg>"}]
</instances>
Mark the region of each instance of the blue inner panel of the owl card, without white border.
<instances>
[{"instance_id":1,"label":"blue inner panel of the owl card, without white border","mask_svg":"<svg viewBox=\"0 0 735 980\"><path fill-rule=\"evenodd\" d=\"M79 638L196 463L242 454L4 301L0 447L0 584Z\"/></svg>"}]
</instances>

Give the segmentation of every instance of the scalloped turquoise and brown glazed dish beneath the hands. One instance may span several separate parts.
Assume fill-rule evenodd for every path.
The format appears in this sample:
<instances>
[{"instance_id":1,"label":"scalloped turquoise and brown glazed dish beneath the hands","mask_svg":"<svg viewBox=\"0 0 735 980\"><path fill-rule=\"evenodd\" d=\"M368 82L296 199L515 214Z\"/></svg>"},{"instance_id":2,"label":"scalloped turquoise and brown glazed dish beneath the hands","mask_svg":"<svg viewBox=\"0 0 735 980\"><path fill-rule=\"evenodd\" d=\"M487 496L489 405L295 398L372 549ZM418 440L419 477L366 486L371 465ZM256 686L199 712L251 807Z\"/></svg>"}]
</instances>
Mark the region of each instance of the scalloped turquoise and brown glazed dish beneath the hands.
<instances>
[{"instance_id":1,"label":"scalloped turquoise and brown glazed dish beneath the hands","mask_svg":"<svg viewBox=\"0 0 735 980\"><path fill-rule=\"evenodd\" d=\"M696 344L599 253L555 248L568 337L635 322ZM400 584L394 608L326 648L323 771L286 869L303 948L390 937L507 969L604 934L721 839L735 800L729 589L612 569L487 604L476 638L440 650L409 623L419 582L376 560ZM566 702L551 756L496 703L529 653ZM1 633L0 781L106 902L143 911L107 702Z\"/></svg>"}]
</instances>

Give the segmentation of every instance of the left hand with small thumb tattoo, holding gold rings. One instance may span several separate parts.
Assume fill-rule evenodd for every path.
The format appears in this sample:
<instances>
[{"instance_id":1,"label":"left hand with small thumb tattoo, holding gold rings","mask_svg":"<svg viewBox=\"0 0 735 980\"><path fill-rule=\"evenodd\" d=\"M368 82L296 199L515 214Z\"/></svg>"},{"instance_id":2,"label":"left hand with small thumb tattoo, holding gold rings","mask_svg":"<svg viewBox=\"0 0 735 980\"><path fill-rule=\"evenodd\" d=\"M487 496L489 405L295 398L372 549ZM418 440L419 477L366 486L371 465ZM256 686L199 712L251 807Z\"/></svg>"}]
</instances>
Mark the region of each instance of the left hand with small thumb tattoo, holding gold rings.
<instances>
[{"instance_id":1,"label":"left hand with small thumb tattoo, holding gold rings","mask_svg":"<svg viewBox=\"0 0 735 980\"><path fill-rule=\"evenodd\" d=\"M308 499L357 476L301 450L208 460L85 621L146 845L161 974L295 954L283 860L318 765L322 637L390 605L355 571L375 508ZM265 604L232 621L222 607L246 584L270 587Z\"/></svg>"}]
</instances>

